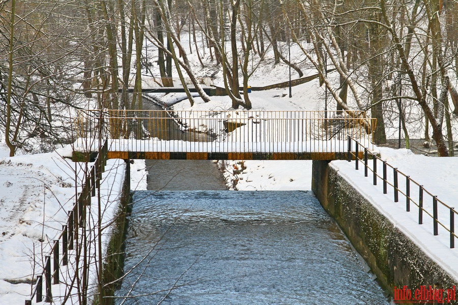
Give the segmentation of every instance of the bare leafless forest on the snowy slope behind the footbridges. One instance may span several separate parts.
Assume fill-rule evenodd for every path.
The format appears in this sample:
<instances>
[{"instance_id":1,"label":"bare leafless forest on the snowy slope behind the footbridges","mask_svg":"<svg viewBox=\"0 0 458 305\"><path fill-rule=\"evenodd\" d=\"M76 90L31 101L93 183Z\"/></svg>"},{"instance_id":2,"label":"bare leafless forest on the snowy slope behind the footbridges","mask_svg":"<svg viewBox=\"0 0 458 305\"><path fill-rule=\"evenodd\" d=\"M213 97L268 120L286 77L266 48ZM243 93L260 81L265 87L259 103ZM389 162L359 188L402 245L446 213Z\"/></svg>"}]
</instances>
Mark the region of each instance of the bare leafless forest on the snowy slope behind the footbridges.
<instances>
[{"instance_id":1,"label":"bare leafless forest on the snowy slope behind the footbridges","mask_svg":"<svg viewBox=\"0 0 458 305\"><path fill-rule=\"evenodd\" d=\"M318 72L337 110L377 118L377 144L386 142L385 125L399 122L407 145L415 130L440 156L453 156L457 7L456 0L3 1L1 133L11 156L36 139L52 149L72 140L62 122L88 101L141 108L142 74L180 77L192 104L184 78L199 89L198 77L209 76L195 69L197 60L218 69L232 108L251 109L248 81L273 58L299 77ZM295 62L285 45L300 49Z\"/></svg>"}]
</instances>

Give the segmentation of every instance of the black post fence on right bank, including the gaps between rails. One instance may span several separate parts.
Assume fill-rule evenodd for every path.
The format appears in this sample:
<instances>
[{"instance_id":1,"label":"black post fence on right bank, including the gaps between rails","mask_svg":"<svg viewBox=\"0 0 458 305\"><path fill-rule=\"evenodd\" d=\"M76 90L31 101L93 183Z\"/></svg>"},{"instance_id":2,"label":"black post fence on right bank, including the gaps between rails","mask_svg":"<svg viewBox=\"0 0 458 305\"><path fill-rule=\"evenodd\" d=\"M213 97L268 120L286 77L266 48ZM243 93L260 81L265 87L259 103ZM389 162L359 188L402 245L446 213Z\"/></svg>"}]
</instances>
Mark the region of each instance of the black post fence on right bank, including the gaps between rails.
<instances>
[{"instance_id":1,"label":"black post fence on right bank, including the gaps between rails","mask_svg":"<svg viewBox=\"0 0 458 305\"><path fill-rule=\"evenodd\" d=\"M410 176L371 153L367 147L364 147L351 136L348 136L347 151L348 162L354 160L356 170L359 170L361 164L364 168L364 176L371 175L374 186L377 186L378 182L381 181L383 194L387 194L390 188L394 202L399 202L399 195L404 197L406 211L410 212L412 206L418 211L419 225L431 223L433 235L439 235L440 227L443 228L450 235L450 248L455 247L457 235L455 234L454 219L457 212L454 207L447 205ZM362 152L364 157L360 158Z\"/></svg>"}]
</instances>

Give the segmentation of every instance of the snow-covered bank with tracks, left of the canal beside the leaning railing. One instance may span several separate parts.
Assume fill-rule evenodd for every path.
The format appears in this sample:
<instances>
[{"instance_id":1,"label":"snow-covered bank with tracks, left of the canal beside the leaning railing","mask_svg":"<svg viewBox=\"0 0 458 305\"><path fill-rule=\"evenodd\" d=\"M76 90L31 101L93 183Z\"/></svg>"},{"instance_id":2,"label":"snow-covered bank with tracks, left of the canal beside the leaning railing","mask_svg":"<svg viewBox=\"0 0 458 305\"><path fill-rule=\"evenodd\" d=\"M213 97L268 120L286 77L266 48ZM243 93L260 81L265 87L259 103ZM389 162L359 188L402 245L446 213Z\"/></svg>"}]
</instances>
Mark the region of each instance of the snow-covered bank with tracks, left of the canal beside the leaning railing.
<instances>
[{"instance_id":1,"label":"snow-covered bank with tracks, left of the canal beside the leaning railing","mask_svg":"<svg viewBox=\"0 0 458 305\"><path fill-rule=\"evenodd\" d=\"M72 209L75 194L80 190L84 165L63 159L58 153L10 158L2 150L0 156L0 304L23 304L31 294L31 283L43 270L44 256L66 224L68 210ZM102 176L103 251L119 206L124 169L123 160L108 160ZM97 197L92 200L88 214L97 215ZM96 218L88 217L88 226L94 228L95 221ZM90 253L90 279L95 283L95 247ZM74 253L69 255L68 267L61 266L63 284L52 285L55 304L69 292L68 284L74 275L72 262ZM90 291L94 289L90 285ZM73 288L71 294L77 298L76 292ZM73 301L70 299L68 303Z\"/></svg>"}]
</instances>

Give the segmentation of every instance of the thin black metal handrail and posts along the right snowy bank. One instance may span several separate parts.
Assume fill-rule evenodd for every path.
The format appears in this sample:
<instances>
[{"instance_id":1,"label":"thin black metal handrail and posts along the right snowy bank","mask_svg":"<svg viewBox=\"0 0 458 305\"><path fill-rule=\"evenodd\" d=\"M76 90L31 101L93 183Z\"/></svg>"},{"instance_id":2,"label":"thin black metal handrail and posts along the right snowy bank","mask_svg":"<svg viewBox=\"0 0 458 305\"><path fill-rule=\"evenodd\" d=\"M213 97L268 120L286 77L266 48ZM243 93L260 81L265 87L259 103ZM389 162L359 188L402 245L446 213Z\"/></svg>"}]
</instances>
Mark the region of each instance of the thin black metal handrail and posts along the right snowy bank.
<instances>
[{"instance_id":1,"label":"thin black metal handrail and posts along the right snowy bank","mask_svg":"<svg viewBox=\"0 0 458 305\"><path fill-rule=\"evenodd\" d=\"M355 151L352 151L352 142L355 143ZM364 159L359 158L359 148L364 147L361 145L361 143L358 142L355 138L348 136L348 161L351 162L352 160L355 160L355 169L359 169L359 163L363 163L364 165L364 175L368 176L368 171L370 170L373 173L374 177L374 185L377 185L377 178L382 179L383 181L383 193L387 194L387 187L390 186L394 190L394 202L399 201L398 194L404 195L406 199L406 210L409 212L410 211L410 203L413 203L418 207L418 223L421 225L423 224L423 214L426 214L427 216L430 216L433 219L433 234L434 235L439 235L438 232L438 225L441 225L446 231L450 233L450 248L454 248L454 239L455 237L458 237L457 234L454 232L454 218L455 214L458 214L458 212L454 209L454 207L449 206L448 204L444 203L442 200L439 200L437 196L433 195L431 192L427 191L424 189L422 185L420 185L417 181L413 180L408 176L407 174L403 173L402 171L398 170L396 167L393 167L392 165L388 164L386 161L382 160L380 157L377 155L371 153L366 147L364 147ZM383 163L383 176L381 176L377 172L377 166L374 166L374 168L370 168L368 166L368 157L371 157L371 159L374 160L374 164L376 165L377 161L380 161ZM393 181L388 181L387 179L387 167L391 168L393 170ZM402 190L399 190L399 184L398 184L398 175L403 176L406 179L406 192L403 192ZM411 183L415 186L418 187L419 189L419 199L418 202L415 201L414 198L411 197L410 195L410 186ZM431 214L431 211L426 210L423 208L423 196L424 194L430 195L433 199L433 214ZM450 211L450 220L449 220L449 227L447 227L446 224L443 222L439 221L438 218L438 203L440 203L443 207L449 209Z\"/></svg>"}]
</instances>

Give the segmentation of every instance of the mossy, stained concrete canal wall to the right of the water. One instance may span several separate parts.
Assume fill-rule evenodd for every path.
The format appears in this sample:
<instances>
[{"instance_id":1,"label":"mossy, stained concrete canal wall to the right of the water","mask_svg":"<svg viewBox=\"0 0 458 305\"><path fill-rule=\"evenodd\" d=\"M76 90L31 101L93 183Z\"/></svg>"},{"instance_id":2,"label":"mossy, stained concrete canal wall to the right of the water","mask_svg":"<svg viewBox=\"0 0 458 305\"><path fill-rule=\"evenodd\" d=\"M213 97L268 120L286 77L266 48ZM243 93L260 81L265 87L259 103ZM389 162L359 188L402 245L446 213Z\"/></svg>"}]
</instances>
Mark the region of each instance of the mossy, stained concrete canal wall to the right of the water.
<instances>
[{"instance_id":1,"label":"mossy, stained concrete canal wall to the right of the water","mask_svg":"<svg viewBox=\"0 0 458 305\"><path fill-rule=\"evenodd\" d=\"M397 293L399 298L399 293L404 293L395 290L395 287L408 288L412 294L421 286L427 289L429 286L432 289L458 287L453 276L428 257L338 171L329 166L329 161L313 161L312 190L367 262L382 288L391 296ZM425 296L429 292L421 293ZM458 302L452 299L449 303Z\"/></svg>"}]
</instances>

